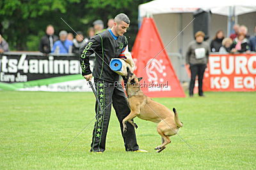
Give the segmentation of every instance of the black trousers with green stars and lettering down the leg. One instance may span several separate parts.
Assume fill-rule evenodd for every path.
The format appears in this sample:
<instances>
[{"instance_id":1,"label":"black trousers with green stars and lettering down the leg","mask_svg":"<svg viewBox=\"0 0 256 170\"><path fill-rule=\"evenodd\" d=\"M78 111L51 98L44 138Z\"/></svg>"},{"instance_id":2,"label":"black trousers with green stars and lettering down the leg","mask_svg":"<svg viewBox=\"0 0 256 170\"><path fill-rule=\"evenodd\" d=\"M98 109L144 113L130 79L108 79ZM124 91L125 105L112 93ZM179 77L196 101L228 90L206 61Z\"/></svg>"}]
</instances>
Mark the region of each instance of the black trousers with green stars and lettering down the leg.
<instances>
[{"instance_id":1,"label":"black trousers with green stars and lettering down the leg","mask_svg":"<svg viewBox=\"0 0 256 170\"><path fill-rule=\"evenodd\" d=\"M127 98L122 85L119 83L110 83L95 79L95 88L100 100L100 105L96 102L96 122L93 129L92 144L90 151L104 151L106 146L106 135L111 113L111 104L116 112L120 123L120 130L124 139L126 151L138 150L139 146L136 141L136 134L131 123L127 123L127 131L123 133L122 120L131 112L128 106ZM99 107L102 108L100 113Z\"/></svg>"}]
</instances>

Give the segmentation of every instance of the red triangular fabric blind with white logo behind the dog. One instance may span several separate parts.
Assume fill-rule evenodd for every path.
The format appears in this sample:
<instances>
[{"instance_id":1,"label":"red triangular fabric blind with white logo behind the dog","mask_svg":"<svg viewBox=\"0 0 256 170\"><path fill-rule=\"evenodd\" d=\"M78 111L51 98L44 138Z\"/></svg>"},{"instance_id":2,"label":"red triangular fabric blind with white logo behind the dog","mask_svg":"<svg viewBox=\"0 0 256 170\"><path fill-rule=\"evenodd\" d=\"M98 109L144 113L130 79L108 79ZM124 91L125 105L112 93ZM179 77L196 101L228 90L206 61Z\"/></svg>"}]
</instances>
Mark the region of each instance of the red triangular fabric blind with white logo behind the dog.
<instances>
[{"instance_id":1,"label":"red triangular fabric blind with white logo behind the dog","mask_svg":"<svg viewBox=\"0 0 256 170\"><path fill-rule=\"evenodd\" d=\"M154 20L144 18L132 48L136 65L134 73L137 77L143 77L140 81L141 90L148 97L185 97L172 63L163 49Z\"/></svg>"}]
</instances>

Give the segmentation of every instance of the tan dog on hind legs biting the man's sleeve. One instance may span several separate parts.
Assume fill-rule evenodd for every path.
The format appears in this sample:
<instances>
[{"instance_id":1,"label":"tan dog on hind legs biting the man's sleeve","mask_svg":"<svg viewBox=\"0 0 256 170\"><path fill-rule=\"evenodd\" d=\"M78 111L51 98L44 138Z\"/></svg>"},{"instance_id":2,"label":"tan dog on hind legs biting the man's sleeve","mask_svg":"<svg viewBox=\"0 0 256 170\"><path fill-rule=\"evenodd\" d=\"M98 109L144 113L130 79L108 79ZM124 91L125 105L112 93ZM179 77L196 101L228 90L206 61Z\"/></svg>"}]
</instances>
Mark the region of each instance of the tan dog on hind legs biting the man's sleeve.
<instances>
[{"instance_id":1,"label":"tan dog on hind legs biting the man's sleeve","mask_svg":"<svg viewBox=\"0 0 256 170\"><path fill-rule=\"evenodd\" d=\"M124 126L123 132L127 130L127 121L135 128L138 128L136 123L132 120L136 116L142 120L157 123L157 132L162 137L162 144L157 146L155 150L157 150L157 153L163 151L166 148L166 144L171 143L170 136L177 134L179 128L183 127L183 123L180 122L176 109L173 108L172 112L164 105L144 95L143 91L140 89L142 77L136 77L128 67L127 76L122 77L128 96L128 104L131 109L130 114L122 121Z\"/></svg>"}]
</instances>

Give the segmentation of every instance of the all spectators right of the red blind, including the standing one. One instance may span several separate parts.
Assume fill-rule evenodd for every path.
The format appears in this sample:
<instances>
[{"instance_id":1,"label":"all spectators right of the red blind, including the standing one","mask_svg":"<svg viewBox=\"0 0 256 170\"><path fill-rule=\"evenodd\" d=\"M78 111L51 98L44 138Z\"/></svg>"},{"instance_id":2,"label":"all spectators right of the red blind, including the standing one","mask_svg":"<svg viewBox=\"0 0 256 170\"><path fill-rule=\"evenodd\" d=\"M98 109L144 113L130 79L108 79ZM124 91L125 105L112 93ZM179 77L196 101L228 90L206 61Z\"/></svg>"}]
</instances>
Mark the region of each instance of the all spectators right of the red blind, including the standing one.
<instances>
[{"instance_id":1,"label":"all spectators right of the red blind, including the standing one","mask_svg":"<svg viewBox=\"0 0 256 170\"><path fill-rule=\"evenodd\" d=\"M209 43L204 41L205 33L198 31L195 33L195 40L190 42L186 52L186 65L189 66L191 79L189 83L189 97L193 97L196 75L198 76L198 95L204 97L203 79L205 68L210 52L226 53L250 53L256 51L256 26L255 35L248 35L246 26L234 26L234 34L225 38L223 31L217 31L213 40Z\"/></svg>"}]
</instances>

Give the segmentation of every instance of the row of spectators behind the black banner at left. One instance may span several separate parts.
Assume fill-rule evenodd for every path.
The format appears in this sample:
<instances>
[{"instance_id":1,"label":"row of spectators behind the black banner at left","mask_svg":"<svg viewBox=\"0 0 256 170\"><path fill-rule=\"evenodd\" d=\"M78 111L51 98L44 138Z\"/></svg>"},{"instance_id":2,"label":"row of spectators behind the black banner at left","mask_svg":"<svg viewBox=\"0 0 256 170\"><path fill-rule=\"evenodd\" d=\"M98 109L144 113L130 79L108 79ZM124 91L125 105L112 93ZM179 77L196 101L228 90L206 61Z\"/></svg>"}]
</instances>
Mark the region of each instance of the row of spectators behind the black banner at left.
<instances>
[{"instance_id":1,"label":"row of spectators behind the black banner at left","mask_svg":"<svg viewBox=\"0 0 256 170\"><path fill-rule=\"evenodd\" d=\"M108 20L108 28L110 29L113 26L114 20ZM62 30L59 33L59 37L54 35L54 27L49 25L46 27L45 36L40 40L39 50L42 53L48 54L51 52L54 53L79 53L80 47L83 47L92 36L97 33L104 31L104 23L102 20L95 20L93 22L93 27L90 27L87 31L87 35L84 36L82 31L77 31L76 35L72 33L67 33L67 31Z\"/></svg>"}]
</instances>

